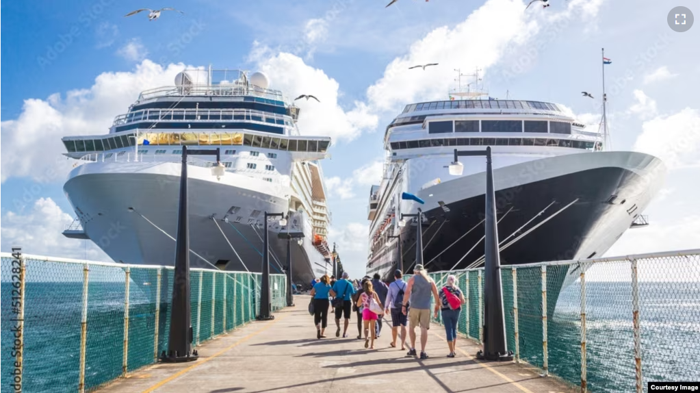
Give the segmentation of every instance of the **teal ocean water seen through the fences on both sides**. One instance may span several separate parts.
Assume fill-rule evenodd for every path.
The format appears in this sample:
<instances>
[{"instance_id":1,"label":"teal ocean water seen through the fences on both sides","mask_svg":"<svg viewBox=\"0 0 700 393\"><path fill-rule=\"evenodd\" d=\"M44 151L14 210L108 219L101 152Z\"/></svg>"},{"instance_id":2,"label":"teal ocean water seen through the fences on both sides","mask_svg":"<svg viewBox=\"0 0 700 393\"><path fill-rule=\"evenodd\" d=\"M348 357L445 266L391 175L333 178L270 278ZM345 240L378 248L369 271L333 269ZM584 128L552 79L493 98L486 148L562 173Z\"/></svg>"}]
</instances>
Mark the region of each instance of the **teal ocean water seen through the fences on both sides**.
<instances>
[{"instance_id":1,"label":"teal ocean water seen through the fences on both sides","mask_svg":"<svg viewBox=\"0 0 700 393\"><path fill-rule=\"evenodd\" d=\"M87 316L86 385L95 387L122 372L124 284L91 284ZM1 284L1 384L10 391L13 336L10 284ZM700 380L700 283L640 283L643 375L649 380ZM25 298L25 392L75 392L80 359L82 284L27 283ZM547 325L549 373L580 381L580 287L561 291ZM591 392L631 392L635 361L630 284L587 283L587 379ZM153 361L155 294L149 287L130 290L129 369ZM202 306L202 310L211 307ZM507 317L510 311L505 308ZM241 312L238 312L241 314ZM160 321L167 321L167 303ZM242 315L241 315L242 317ZM167 326L161 323L160 345ZM522 359L542 365L542 322L537 308L520 307ZM512 333L512 326L508 335ZM514 342L510 338L509 347ZM145 349L145 350L144 350ZM646 389L646 386L645 386Z\"/></svg>"}]
</instances>

